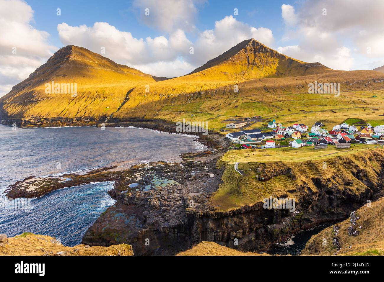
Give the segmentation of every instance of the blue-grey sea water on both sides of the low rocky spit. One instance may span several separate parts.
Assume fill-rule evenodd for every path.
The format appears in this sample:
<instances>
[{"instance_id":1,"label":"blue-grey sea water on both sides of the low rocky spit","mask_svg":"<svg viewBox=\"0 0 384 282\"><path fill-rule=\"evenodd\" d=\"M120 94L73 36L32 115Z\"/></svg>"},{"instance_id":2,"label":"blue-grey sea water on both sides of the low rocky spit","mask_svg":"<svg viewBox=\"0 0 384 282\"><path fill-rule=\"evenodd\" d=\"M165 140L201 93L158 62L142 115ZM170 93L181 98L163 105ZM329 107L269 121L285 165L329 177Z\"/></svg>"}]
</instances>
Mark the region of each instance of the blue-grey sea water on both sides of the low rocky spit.
<instances>
[{"instance_id":1,"label":"blue-grey sea water on both sides of the low rocky spit","mask_svg":"<svg viewBox=\"0 0 384 282\"><path fill-rule=\"evenodd\" d=\"M32 175L81 173L113 164L177 162L180 153L206 149L194 138L133 127L12 130L0 125L0 194ZM113 182L100 182L56 190L30 200L26 209L0 205L0 234L32 232L55 236L68 246L79 244L88 227L114 203L107 194L112 187ZM0 200L5 203L3 196Z\"/></svg>"}]
</instances>

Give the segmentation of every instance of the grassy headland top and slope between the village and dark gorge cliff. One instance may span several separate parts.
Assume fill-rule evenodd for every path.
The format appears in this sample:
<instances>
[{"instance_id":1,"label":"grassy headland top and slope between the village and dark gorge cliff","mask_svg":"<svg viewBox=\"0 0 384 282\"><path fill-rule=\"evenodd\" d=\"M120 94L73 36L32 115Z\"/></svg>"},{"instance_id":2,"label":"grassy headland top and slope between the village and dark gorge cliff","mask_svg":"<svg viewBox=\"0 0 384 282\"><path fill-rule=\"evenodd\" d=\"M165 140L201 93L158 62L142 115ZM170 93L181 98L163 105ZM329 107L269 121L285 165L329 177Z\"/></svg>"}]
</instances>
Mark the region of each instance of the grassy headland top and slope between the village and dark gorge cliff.
<instances>
[{"instance_id":1,"label":"grassy headland top and slope between the village and dark gorge cliff","mask_svg":"<svg viewBox=\"0 0 384 282\"><path fill-rule=\"evenodd\" d=\"M379 182L378 172L381 167L377 160L384 157L384 149L369 146L356 144L352 147L354 150L336 150L334 147L314 150L307 147L230 151L218 162L218 166L225 170L222 184L210 201L220 211L250 206L270 196L295 198L300 202L298 186L317 191L312 179L319 177L338 189L362 193L367 186L353 173L365 170L366 177L372 183ZM250 156L246 157L248 154ZM238 168L245 175L235 171L235 162L240 162ZM345 187L340 185L345 180L351 181L351 184Z\"/></svg>"}]
</instances>

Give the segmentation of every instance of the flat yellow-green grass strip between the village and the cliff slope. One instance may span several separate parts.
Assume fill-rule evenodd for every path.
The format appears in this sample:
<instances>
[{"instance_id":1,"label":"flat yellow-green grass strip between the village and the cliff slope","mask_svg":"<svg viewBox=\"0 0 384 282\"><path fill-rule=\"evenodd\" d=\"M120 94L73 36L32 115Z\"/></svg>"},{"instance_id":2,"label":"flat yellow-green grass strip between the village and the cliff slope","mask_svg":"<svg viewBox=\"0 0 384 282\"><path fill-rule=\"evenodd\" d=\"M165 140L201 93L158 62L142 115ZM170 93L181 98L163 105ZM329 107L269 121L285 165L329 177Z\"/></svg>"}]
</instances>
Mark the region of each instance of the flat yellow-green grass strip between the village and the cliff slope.
<instances>
[{"instance_id":1,"label":"flat yellow-green grass strip between the village and the cliff slope","mask_svg":"<svg viewBox=\"0 0 384 282\"><path fill-rule=\"evenodd\" d=\"M313 147L302 148L269 148L269 149L244 149L232 150L223 155L222 161L229 163L248 162L304 162L307 160L320 160L323 158L344 156L350 153L381 147L381 145L351 144L351 148L337 149L335 146L327 146L324 149Z\"/></svg>"}]
</instances>

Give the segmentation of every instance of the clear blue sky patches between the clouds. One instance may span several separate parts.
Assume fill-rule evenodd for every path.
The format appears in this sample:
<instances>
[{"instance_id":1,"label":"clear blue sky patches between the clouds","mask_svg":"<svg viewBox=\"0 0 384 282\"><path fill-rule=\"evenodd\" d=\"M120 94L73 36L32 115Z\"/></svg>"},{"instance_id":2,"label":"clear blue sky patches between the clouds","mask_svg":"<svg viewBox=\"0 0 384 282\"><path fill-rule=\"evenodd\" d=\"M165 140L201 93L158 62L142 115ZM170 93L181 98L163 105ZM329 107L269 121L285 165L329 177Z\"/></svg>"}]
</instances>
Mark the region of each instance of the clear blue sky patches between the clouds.
<instances>
[{"instance_id":1,"label":"clear blue sky patches between the clouds","mask_svg":"<svg viewBox=\"0 0 384 282\"><path fill-rule=\"evenodd\" d=\"M57 34L57 25L65 22L71 26L91 26L96 21L108 22L118 30L129 31L136 38L156 37L164 35L164 32L146 26L137 19L140 10L132 7L132 1L126 0L27 0L34 13L34 26L38 30L48 31L51 42L56 46L63 46ZM239 2L239 3L236 3ZM294 1L274 0L270 1L225 1L211 0L197 4L199 13L195 25L198 30L212 29L216 20L233 15L233 9L238 8L240 21L252 26L264 26L273 30L277 38L283 36L284 24L281 19L281 5ZM56 9L61 9L61 16L56 16ZM190 33L190 38L194 38Z\"/></svg>"}]
</instances>

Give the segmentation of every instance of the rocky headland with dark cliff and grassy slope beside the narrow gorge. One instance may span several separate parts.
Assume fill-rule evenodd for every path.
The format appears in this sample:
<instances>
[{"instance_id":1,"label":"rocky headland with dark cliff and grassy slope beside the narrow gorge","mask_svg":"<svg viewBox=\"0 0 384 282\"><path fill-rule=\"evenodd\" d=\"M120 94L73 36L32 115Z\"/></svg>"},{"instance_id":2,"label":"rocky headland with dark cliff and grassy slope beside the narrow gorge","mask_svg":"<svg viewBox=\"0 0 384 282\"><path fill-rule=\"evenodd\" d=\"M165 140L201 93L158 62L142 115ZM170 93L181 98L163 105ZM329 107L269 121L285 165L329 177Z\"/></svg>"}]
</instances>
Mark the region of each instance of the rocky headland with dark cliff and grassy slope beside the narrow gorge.
<instances>
[{"instance_id":1,"label":"rocky headland with dark cliff and grassy slope beside the narrow gorge","mask_svg":"<svg viewBox=\"0 0 384 282\"><path fill-rule=\"evenodd\" d=\"M244 176L215 159L182 166L184 180L177 185L111 191L116 204L83 242L131 244L137 255L175 254L201 241L265 251L300 229L344 219L383 196L381 148L305 162L242 163ZM262 201L269 196L295 198L295 211L265 209Z\"/></svg>"}]
</instances>

